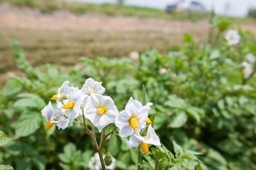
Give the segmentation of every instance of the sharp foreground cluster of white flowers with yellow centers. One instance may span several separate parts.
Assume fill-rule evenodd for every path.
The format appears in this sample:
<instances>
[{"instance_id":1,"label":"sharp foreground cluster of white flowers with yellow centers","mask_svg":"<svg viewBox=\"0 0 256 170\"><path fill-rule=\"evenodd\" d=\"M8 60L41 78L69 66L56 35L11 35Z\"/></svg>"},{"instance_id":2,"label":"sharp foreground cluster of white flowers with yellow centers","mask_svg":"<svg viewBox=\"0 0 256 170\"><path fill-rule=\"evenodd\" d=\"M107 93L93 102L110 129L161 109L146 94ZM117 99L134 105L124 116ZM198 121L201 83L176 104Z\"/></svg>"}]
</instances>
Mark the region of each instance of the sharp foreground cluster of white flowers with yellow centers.
<instances>
[{"instance_id":1,"label":"sharp foreground cluster of white flowers with yellow centers","mask_svg":"<svg viewBox=\"0 0 256 170\"><path fill-rule=\"evenodd\" d=\"M56 125L58 129L65 129L68 124L72 125L77 117L83 115L97 127L99 132L106 125L114 123L119 129L119 136L129 137L129 141L124 139L127 146L141 146L144 153L148 153L148 144L161 145L148 118L152 103L143 106L140 101L131 97L125 110L119 113L113 99L103 96L105 89L101 82L88 78L82 89L69 87L68 83L65 81L51 98L56 101L57 109L54 109L49 102L42 110L42 115L47 118L45 125L47 131L52 125ZM146 136L141 136L142 129L147 130ZM95 156L96 159L98 159L97 156Z\"/></svg>"}]
</instances>

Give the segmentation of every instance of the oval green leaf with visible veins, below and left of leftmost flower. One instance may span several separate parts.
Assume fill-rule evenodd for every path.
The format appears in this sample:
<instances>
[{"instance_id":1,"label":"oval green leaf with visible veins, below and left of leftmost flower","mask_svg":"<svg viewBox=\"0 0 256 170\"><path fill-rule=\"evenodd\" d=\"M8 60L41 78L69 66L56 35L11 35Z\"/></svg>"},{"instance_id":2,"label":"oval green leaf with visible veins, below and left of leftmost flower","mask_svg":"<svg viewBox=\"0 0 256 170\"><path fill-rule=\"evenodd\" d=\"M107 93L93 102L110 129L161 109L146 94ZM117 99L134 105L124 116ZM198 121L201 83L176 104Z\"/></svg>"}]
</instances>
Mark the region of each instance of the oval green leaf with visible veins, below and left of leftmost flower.
<instances>
[{"instance_id":1,"label":"oval green leaf with visible veins, below and left of leftmost flower","mask_svg":"<svg viewBox=\"0 0 256 170\"><path fill-rule=\"evenodd\" d=\"M17 122L13 123L15 129L15 138L29 136L33 134L41 125L42 116L40 113L28 112L23 113Z\"/></svg>"}]
</instances>

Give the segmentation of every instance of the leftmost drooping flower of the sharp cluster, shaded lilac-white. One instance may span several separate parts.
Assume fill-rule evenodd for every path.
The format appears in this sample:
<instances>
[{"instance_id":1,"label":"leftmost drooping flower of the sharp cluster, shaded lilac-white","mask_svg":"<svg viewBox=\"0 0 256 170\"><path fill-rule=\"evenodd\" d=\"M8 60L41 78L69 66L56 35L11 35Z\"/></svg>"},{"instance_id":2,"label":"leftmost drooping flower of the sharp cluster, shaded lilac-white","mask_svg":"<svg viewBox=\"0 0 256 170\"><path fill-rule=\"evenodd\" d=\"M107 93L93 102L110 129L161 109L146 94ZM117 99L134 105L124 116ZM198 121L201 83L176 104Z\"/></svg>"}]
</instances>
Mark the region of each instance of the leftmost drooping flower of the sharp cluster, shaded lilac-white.
<instances>
[{"instance_id":1,"label":"leftmost drooping flower of the sharp cluster, shaded lilac-white","mask_svg":"<svg viewBox=\"0 0 256 170\"><path fill-rule=\"evenodd\" d=\"M58 129L65 129L68 126L68 119L64 117L61 109L53 109L51 101L41 111L42 115L47 118L45 129L49 131L52 125L57 125Z\"/></svg>"}]
</instances>

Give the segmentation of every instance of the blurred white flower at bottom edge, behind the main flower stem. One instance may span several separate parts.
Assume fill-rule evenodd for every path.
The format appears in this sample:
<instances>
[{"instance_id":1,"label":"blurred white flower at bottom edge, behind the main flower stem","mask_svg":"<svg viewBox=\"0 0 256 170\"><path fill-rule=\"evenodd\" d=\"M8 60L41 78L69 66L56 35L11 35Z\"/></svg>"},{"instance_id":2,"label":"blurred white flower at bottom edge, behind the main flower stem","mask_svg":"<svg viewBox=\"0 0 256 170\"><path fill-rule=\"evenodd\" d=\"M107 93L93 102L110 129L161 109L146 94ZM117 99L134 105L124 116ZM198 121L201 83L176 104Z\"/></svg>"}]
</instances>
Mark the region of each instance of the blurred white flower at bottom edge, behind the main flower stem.
<instances>
[{"instance_id":1,"label":"blurred white flower at bottom edge, behind the main flower stem","mask_svg":"<svg viewBox=\"0 0 256 170\"><path fill-rule=\"evenodd\" d=\"M105 155L103 155L105 157ZM110 166L106 166L106 169L114 169L115 167L115 162L116 159L111 156L112 159L112 164ZM90 159L89 165L90 169L93 170L100 170L101 169L101 164L100 164L100 157L98 153L95 153L93 157Z\"/></svg>"}]
</instances>

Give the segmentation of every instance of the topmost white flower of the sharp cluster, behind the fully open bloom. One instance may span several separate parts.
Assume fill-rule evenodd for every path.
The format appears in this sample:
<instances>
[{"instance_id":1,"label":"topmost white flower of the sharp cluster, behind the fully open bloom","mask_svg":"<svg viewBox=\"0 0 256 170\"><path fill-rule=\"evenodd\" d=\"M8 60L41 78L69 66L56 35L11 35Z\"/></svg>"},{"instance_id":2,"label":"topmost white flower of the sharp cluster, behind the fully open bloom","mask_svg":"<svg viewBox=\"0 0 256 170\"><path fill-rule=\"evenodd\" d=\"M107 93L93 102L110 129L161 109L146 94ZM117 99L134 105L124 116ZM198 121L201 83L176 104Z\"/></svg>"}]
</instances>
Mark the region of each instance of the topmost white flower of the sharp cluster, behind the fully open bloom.
<instances>
[{"instance_id":1,"label":"topmost white flower of the sharp cluster, behind the fully open bloom","mask_svg":"<svg viewBox=\"0 0 256 170\"><path fill-rule=\"evenodd\" d=\"M81 89L81 92L84 94L84 103L85 105L87 103L87 99L89 96L92 96L93 94L99 94L102 95L105 92L105 88L102 87L101 82L95 81L92 78L88 78Z\"/></svg>"}]
</instances>

